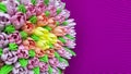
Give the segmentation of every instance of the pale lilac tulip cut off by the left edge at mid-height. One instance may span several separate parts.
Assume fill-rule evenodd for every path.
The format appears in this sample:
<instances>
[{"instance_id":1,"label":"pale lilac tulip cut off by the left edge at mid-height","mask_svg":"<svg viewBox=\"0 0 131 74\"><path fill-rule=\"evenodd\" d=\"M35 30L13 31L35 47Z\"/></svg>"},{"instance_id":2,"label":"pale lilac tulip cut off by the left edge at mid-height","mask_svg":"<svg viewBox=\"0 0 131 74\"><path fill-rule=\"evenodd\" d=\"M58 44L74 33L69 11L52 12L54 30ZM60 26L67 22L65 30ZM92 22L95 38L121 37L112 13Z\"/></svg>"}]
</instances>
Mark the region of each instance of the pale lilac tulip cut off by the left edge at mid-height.
<instances>
[{"instance_id":1,"label":"pale lilac tulip cut off by the left edge at mid-height","mask_svg":"<svg viewBox=\"0 0 131 74\"><path fill-rule=\"evenodd\" d=\"M8 35L4 33L0 33L0 48L5 47L9 44Z\"/></svg>"}]
</instances>

